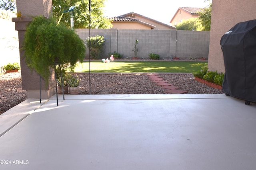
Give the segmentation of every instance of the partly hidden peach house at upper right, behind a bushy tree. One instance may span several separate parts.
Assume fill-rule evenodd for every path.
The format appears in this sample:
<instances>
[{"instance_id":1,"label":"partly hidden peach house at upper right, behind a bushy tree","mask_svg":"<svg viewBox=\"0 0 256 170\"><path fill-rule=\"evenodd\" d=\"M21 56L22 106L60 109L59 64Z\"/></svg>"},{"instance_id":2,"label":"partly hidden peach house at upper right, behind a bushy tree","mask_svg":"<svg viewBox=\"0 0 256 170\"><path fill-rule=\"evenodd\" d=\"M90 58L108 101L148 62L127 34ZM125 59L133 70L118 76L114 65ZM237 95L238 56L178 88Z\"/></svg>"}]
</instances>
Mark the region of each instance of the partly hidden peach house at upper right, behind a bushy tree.
<instances>
[{"instance_id":1,"label":"partly hidden peach house at upper right, behind a bushy tree","mask_svg":"<svg viewBox=\"0 0 256 170\"><path fill-rule=\"evenodd\" d=\"M170 23L172 26L175 26L184 20L188 20L190 18L198 18L200 16L199 12L201 10L202 8L180 7L172 17Z\"/></svg>"}]
</instances>

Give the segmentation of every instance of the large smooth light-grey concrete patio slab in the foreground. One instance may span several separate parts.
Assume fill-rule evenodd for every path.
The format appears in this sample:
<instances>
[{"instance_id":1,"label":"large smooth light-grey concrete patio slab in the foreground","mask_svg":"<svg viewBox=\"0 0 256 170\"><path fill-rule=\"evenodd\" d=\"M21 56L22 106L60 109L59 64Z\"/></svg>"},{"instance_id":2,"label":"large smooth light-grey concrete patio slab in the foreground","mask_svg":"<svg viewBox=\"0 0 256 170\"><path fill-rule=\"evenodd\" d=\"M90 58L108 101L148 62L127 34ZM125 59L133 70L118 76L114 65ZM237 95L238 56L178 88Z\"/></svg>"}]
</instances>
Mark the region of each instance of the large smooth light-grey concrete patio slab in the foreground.
<instances>
[{"instance_id":1,"label":"large smooth light-grey concrete patio slab in the foreground","mask_svg":"<svg viewBox=\"0 0 256 170\"><path fill-rule=\"evenodd\" d=\"M65 99L38 104L0 137L0 160L10 160L0 169L256 168L254 103L225 94Z\"/></svg>"}]
</instances>

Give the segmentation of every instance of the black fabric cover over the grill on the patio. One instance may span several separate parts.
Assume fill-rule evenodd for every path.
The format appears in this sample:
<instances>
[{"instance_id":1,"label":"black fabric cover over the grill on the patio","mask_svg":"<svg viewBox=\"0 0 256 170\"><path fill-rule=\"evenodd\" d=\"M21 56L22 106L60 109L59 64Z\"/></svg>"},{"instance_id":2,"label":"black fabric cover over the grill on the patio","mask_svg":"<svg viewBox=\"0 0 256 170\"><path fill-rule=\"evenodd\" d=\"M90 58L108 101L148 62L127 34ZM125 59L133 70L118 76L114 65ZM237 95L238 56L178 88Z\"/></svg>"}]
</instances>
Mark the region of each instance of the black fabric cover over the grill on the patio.
<instances>
[{"instance_id":1,"label":"black fabric cover over the grill on the patio","mask_svg":"<svg viewBox=\"0 0 256 170\"><path fill-rule=\"evenodd\" d=\"M256 20L237 23L220 40L225 76L222 91L256 102Z\"/></svg>"}]
</instances>

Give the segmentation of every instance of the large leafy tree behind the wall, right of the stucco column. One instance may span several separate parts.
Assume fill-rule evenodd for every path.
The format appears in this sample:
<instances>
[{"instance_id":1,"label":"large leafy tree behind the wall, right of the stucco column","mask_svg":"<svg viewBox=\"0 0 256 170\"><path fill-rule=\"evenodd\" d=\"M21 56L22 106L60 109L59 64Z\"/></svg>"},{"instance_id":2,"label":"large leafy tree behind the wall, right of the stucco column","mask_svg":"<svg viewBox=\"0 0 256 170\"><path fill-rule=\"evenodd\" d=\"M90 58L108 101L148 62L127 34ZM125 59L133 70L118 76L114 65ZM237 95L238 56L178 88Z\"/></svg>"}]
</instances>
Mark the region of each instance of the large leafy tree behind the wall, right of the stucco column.
<instances>
[{"instance_id":1,"label":"large leafy tree behind the wall, right of the stucco column","mask_svg":"<svg viewBox=\"0 0 256 170\"><path fill-rule=\"evenodd\" d=\"M89 28L89 0L52 0L53 16L70 27L71 12L64 12L74 6L74 28ZM91 0L91 28L110 28L110 19L103 16L104 0Z\"/></svg>"}]
</instances>

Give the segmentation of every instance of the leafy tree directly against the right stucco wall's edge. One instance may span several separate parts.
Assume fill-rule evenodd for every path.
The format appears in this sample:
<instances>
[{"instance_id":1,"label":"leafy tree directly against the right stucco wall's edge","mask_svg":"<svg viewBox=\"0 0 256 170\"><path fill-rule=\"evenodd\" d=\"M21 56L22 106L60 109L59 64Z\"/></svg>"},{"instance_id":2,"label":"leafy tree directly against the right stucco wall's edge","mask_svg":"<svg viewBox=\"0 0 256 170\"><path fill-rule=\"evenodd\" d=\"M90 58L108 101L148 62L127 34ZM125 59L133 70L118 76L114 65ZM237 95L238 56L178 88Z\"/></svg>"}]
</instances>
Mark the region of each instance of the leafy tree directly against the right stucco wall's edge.
<instances>
[{"instance_id":1,"label":"leafy tree directly against the right stucco wall's edge","mask_svg":"<svg viewBox=\"0 0 256 170\"><path fill-rule=\"evenodd\" d=\"M203 31L210 31L212 18L212 4L209 4L201 12L199 12L199 14L200 16L198 17L198 20L200 20L203 26Z\"/></svg>"}]
</instances>

